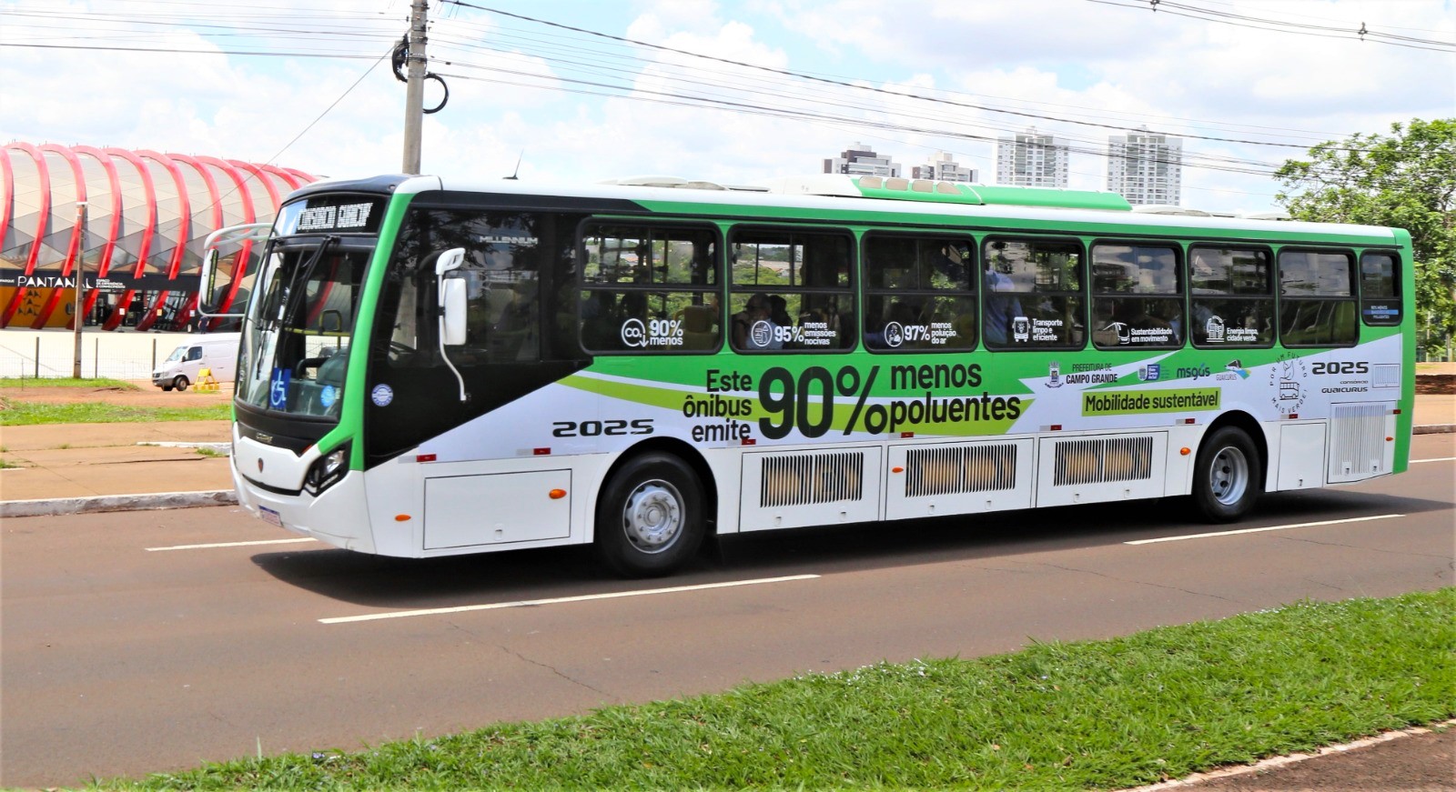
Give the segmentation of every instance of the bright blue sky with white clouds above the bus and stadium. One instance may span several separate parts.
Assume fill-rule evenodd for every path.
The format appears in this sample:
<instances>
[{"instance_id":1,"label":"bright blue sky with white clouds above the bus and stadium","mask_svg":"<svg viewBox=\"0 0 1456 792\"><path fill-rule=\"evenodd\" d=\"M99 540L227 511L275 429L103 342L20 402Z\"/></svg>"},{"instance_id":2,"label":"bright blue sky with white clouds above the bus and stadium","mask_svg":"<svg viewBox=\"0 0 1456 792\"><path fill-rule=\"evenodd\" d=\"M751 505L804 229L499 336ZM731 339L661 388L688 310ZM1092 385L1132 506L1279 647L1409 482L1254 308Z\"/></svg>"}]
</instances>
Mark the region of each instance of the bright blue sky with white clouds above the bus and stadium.
<instances>
[{"instance_id":1,"label":"bright blue sky with white clouds above the bus and stadium","mask_svg":"<svg viewBox=\"0 0 1456 792\"><path fill-rule=\"evenodd\" d=\"M751 183L859 143L993 183L994 138L1035 125L1073 147L1070 186L1102 189L1108 135L1146 127L1185 135L1184 205L1259 211L1315 143L1456 116L1456 0L1153 1L431 0L450 98L424 172ZM0 0L0 141L399 172L408 16Z\"/></svg>"}]
</instances>

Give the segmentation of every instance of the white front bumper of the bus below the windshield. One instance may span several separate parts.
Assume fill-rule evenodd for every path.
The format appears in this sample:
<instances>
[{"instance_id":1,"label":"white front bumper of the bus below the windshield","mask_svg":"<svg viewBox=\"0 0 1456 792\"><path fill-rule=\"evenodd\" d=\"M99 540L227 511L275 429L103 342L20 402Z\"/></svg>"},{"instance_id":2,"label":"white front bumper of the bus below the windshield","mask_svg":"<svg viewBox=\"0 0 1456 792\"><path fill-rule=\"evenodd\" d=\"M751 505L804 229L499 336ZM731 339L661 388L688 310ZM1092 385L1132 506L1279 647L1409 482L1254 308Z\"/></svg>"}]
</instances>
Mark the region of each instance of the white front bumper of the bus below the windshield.
<instances>
[{"instance_id":1,"label":"white front bumper of the bus below the windshield","mask_svg":"<svg viewBox=\"0 0 1456 792\"><path fill-rule=\"evenodd\" d=\"M316 496L307 492L297 495L269 492L245 479L236 466L233 486L237 489L237 502L265 523L345 550L374 552L374 531L370 528L364 498L364 473L360 470L349 470L339 483ZM320 515L328 515L326 524L335 526L335 533L325 533L316 527L325 524ZM344 533L339 533L339 528L344 528Z\"/></svg>"}]
</instances>

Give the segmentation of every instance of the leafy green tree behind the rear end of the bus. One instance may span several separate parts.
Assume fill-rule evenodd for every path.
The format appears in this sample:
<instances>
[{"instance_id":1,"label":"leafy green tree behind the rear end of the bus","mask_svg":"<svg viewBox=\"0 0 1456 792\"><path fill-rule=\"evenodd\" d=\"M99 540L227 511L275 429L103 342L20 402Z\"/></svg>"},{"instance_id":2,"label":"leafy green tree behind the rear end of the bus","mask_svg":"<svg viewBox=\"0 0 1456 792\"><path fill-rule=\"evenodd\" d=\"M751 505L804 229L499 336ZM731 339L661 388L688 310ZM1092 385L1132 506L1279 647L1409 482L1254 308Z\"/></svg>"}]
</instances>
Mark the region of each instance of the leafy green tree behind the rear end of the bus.
<instances>
[{"instance_id":1,"label":"leafy green tree behind the rear end of the bus","mask_svg":"<svg viewBox=\"0 0 1456 792\"><path fill-rule=\"evenodd\" d=\"M1456 333L1456 118L1392 124L1390 135L1321 143L1274 173L1296 220L1395 226L1415 249L1417 342Z\"/></svg>"}]
</instances>

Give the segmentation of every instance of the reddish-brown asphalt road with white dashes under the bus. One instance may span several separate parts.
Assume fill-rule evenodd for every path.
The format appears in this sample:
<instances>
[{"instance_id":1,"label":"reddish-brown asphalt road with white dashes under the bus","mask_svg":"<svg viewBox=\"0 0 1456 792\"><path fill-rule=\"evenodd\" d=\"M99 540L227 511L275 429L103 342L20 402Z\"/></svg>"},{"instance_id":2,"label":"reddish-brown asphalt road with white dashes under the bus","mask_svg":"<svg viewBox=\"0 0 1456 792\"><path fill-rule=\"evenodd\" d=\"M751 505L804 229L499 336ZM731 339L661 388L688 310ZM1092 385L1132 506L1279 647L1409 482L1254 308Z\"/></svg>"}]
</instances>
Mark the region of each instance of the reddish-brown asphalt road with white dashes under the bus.
<instances>
[{"instance_id":1,"label":"reddish-brown asphalt road with white dashes under the bus","mask_svg":"<svg viewBox=\"0 0 1456 792\"><path fill-rule=\"evenodd\" d=\"M1452 585L1456 435L1412 448L1430 462L1270 495L1238 526L1159 501L783 531L724 540L645 584L603 577L584 549L361 556L236 508L6 520L0 783L354 750ZM1233 533L1249 528L1278 530ZM1229 533L1195 536L1208 531ZM1174 540L1130 543L1153 539Z\"/></svg>"}]
</instances>

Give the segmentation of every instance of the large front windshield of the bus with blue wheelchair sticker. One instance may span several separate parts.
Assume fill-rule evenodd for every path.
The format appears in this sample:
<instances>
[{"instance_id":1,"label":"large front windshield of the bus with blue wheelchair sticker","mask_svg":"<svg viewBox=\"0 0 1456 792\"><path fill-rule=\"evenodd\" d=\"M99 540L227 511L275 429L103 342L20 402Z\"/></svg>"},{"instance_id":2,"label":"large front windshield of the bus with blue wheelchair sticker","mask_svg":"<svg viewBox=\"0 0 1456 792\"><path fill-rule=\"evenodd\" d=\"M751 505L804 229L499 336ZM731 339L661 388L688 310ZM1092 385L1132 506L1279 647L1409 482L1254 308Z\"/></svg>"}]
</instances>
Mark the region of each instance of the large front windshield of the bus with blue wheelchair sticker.
<instances>
[{"instance_id":1,"label":"large front windshield of the bus with blue wheelchair sticker","mask_svg":"<svg viewBox=\"0 0 1456 792\"><path fill-rule=\"evenodd\" d=\"M339 237L274 240L237 360L237 400L338 419L349 335L373 246Z\"/></svg>"}]
</instances>

